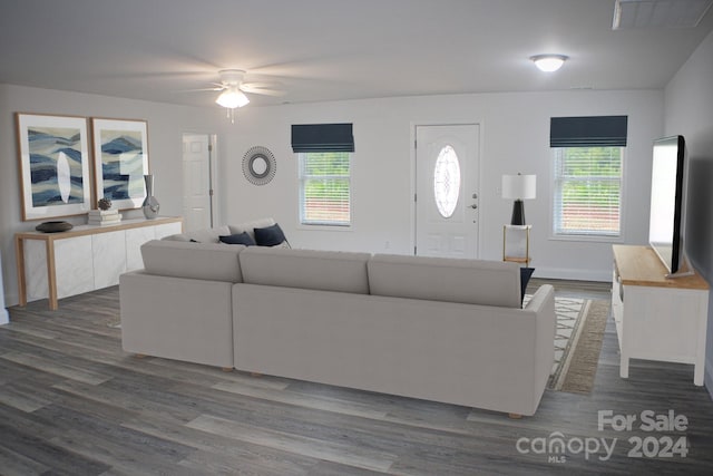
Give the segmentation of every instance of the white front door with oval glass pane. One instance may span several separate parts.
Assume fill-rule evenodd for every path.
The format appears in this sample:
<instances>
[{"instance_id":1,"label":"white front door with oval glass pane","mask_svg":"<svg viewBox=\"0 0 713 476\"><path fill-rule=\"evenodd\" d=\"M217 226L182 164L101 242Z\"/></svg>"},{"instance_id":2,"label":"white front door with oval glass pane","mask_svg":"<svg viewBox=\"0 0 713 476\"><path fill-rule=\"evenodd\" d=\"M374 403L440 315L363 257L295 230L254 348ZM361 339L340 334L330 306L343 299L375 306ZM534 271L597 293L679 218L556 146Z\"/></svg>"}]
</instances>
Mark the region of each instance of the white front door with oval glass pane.
<instances>
[{"instance_id":1,"label":"white front door with oval glass pane","mask_svg":"<svg viewBox=\"0 0 713 476\"><path fill-rule=\"evenodd\" d=\"M477 124L416 127L416 254L478 258Z\"/></svg>"}]
</instances>

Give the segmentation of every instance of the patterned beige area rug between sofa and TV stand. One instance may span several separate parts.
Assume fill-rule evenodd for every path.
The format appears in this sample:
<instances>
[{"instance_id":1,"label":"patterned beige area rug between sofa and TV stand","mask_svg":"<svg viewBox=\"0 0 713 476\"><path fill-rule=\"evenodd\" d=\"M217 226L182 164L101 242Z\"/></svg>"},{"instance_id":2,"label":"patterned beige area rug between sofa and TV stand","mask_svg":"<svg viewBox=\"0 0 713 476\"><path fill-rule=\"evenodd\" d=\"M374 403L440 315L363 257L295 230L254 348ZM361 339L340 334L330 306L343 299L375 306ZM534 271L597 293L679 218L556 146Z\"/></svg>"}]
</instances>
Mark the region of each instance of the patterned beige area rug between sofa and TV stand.
<instances>
[{"instance_id":1,"label":"patterned beige area rug between sofa and TV stand","mask_svg":"<svg viewBox=\"0 0 713 476\"><path fill-rule=\"evenodd\" d=\"M525 302L529 295L525 297ZM555 361L547 388L589 394L602 350L609 302L582 298L555 298Z\"/></svg>"}]
</instances>

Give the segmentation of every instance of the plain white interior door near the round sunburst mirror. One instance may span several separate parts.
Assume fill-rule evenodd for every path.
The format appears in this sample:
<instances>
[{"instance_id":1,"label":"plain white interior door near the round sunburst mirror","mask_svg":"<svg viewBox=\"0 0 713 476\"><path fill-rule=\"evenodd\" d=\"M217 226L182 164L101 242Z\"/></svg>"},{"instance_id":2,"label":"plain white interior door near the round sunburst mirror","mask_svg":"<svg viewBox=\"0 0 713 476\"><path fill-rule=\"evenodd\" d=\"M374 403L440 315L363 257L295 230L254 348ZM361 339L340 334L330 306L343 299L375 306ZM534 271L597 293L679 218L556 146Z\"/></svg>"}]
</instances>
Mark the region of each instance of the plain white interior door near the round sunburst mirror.
<instances>
[{"instance_id":1,"label":"plain white interior door near the round sunburst mirror","mask_svg":"<svg viewBox=\"0 0 713 476\"><path fill-rule=\"evenodd\" d=\"M211 135L183 135L183 218L186 231L213 226L211 155Z\"/></svg>"}]
</instances>

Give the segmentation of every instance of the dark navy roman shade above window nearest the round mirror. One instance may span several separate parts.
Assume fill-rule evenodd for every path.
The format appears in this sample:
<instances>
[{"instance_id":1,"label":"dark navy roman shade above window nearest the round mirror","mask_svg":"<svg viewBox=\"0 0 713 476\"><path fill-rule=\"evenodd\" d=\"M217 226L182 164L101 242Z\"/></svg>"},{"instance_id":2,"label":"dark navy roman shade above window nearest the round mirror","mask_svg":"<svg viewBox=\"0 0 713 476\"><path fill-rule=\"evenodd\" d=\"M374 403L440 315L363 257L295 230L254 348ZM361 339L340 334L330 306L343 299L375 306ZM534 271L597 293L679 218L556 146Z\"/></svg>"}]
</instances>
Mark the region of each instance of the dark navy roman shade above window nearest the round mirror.
<instances>
[{"instance_id":1,"label":"dark navy roman shade above window nearest the round mirror","mask_svg":"<svg viewBox=\"0 0 713 476\"><path fill-rule=\"evenodd\" d=\"M292 150L354 152L351 124L293 124Z\"/></svg>"}]
</instances>

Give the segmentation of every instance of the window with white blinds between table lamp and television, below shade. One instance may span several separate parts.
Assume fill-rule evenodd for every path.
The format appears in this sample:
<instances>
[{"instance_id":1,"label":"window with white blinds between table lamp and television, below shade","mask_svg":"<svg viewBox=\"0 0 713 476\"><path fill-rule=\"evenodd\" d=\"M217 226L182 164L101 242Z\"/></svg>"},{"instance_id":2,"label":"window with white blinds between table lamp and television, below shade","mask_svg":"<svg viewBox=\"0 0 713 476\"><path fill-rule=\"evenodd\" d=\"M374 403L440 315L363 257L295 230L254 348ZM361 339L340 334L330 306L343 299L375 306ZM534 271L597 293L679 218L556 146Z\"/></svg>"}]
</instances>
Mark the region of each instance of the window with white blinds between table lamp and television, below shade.
<instances>
[{"instance_id":1,"label":"window with white blinds between table lamp and television, below shade","mask_svg":"<svg viewBox=\"0 0 713 476\"><path fill-rule=\"evenodd\" d=\"M621 236L624 147L555 147L553 156L553 233Z\"/></svg>"}]
</instances>

